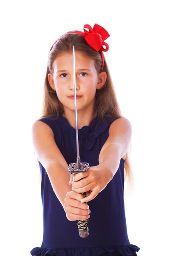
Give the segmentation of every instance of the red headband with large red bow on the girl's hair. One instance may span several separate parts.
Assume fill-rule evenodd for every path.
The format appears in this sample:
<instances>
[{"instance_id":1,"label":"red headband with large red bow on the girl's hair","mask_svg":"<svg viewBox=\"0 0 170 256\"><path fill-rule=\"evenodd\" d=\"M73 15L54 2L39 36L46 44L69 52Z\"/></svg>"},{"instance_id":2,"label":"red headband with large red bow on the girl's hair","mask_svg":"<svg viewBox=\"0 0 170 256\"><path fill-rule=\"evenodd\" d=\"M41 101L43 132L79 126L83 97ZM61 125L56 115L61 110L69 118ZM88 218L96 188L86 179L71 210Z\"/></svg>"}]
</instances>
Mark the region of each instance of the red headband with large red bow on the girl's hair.
<instances>
[{"instance_id":1,"label":"red headband with large red bow on the girl's hair","mask_svg":"<svg viewBox=\"0 0 170 256\"><path fill-rule=\"evenodd\" d=\"M99 26L98 24L95 24L93 29L90 25L86 24L84 25L83 29L84 29L84 32L72 31L72 32L67 32L65 34L74 33L74 34L82 35L85 37L85 41L88 43L88 45L90 45L96 52L100 51L102 55L102 70L103 70L103 67L104 67L103 52L107 52L109 49L109 45L105 43L104 40L106 40L110 35L106 29L104 29L102 26ZM61 38L62 36L60 36L59 38ZM59 38L57 39L57 41L59 40ZM54 44L57 41L55 41ZM51 49L53 48L54 44L52 45ZM103 46L105 46L105 48ZM48 66L48 70L50 72L49 66Z\"/></svg>"}]
</instances>

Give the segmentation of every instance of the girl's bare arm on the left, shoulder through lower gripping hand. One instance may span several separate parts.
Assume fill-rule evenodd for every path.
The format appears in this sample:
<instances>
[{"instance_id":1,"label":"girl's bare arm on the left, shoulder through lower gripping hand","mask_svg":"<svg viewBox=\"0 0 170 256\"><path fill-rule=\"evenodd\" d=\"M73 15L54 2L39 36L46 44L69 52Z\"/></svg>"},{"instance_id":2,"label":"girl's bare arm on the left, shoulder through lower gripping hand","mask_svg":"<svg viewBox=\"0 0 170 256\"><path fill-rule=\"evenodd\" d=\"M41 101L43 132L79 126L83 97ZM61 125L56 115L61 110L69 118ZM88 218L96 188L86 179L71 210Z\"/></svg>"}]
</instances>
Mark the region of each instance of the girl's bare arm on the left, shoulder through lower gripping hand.
<instances>
[{"instance_id":1,"label":"girl's bare arm on the left, shoulder through lower gripping hand","mask_svg":"<svg viewBox=\"0 0 170 256\"><path fill-rule=\"evenodd\" d=\"M37 157L48 174L54 193L62 204L68 220L89 218L88 205L80 202L83 196L72 191L68 184L68 164L55 143L52 129L37 120L32 126L32 139Z\"/></svg>"}]
</instances>

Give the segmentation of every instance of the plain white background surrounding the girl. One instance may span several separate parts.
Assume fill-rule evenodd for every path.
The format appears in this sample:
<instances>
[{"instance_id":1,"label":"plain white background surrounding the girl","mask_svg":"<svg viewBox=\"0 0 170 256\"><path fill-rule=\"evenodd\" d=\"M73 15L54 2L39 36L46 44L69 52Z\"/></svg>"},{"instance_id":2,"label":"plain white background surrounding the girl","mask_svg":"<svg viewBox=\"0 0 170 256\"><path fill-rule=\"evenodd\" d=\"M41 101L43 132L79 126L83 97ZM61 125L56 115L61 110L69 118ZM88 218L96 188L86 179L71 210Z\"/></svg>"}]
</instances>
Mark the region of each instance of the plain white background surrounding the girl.
<instances>
[{"instance_id":1,"label":"plain white background surrounding the girl","mask_svg":"<svg viewBox=\"0 0 170 256\"><path fill-rule=\"evenodd\" d=\"M65 32L95 23L111 35L105 58L122 115L133 126L129 240L139 256L170 255L169 1L3 1L0 23L0 255L30 256L41 246L31 126L41 115L48 52Z\"/></svg>"}]
</instances>

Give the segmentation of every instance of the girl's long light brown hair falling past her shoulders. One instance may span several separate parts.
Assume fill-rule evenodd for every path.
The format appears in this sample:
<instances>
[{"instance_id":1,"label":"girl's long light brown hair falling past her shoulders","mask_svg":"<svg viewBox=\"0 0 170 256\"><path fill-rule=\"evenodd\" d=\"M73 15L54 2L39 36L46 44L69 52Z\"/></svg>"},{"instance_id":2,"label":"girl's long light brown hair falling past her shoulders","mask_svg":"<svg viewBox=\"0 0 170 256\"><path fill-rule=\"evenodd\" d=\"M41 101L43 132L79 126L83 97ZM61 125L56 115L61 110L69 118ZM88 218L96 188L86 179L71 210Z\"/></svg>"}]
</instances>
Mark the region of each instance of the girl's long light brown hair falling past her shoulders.
<instances>
[{"instance_id":1,"label":"girl's long light brown hair falling past her shoulders","mask_svg":"<svg viewBox=\"0 0 170 256\"><path fill-rule=\"evenodd\" d=\"M97 72L101 72L102 57L100 52L96 52L93 48L91 48L86 43L82 35L78 35L76 33L67 33L59 38L58 41L53 45L53 48L51 49L48 56L48 66L44 82L42 115L40 118L47 116L54 116L58 118L59 114L63 113L63 107L57 97L56 91L51 88L48 82L48 73L53 74L53 62L57 58L57 55L63 52L72 52L73 45L75 50L83 52L85 55L94 59ZM121 117L122 113L116 99L115 89L111 80L111 75L105 57L103 71L107 73L107 80L100 90L96 90L94 110L97 113L98 118L105 122L111 117ZM130 148L127 151L124 166L125 180L128 180L127 189L128 187L133 187L133 175L130 167L129 153Z\"/></svg>"}]
</instances>

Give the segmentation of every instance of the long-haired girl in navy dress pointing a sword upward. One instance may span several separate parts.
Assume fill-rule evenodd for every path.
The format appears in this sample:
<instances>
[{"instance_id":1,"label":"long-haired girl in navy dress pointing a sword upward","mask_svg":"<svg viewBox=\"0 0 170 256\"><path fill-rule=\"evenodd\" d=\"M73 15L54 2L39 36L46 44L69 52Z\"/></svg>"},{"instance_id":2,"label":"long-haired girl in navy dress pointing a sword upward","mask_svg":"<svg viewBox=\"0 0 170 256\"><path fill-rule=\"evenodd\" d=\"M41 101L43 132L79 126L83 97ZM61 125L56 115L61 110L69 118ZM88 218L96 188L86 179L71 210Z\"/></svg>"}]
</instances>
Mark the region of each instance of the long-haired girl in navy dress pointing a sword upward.
<instances>
[{"instance_id":1,"label":"long-haired girl in navy dress pointing a sword upward","mask_svg":"<svg viewBox=\"0 0 170 256\"><path fill-rule=\"evenodd\" d=\"M130 122L120 114L103 51L108 32L95 24L62 35L51 47L43 116L32 126L41 172L43 241L32 256L135 256L127 236L124 164ZM75 49L77 120L81 162L88 172L70 175L77 159L72 49ZM86 192L87 197L80 194ZM87 204L88 203L88 204ZM91 211L91 213L90 213ZM77 220L88 219L79 236Z\"/></svg>"}]
</instances>

